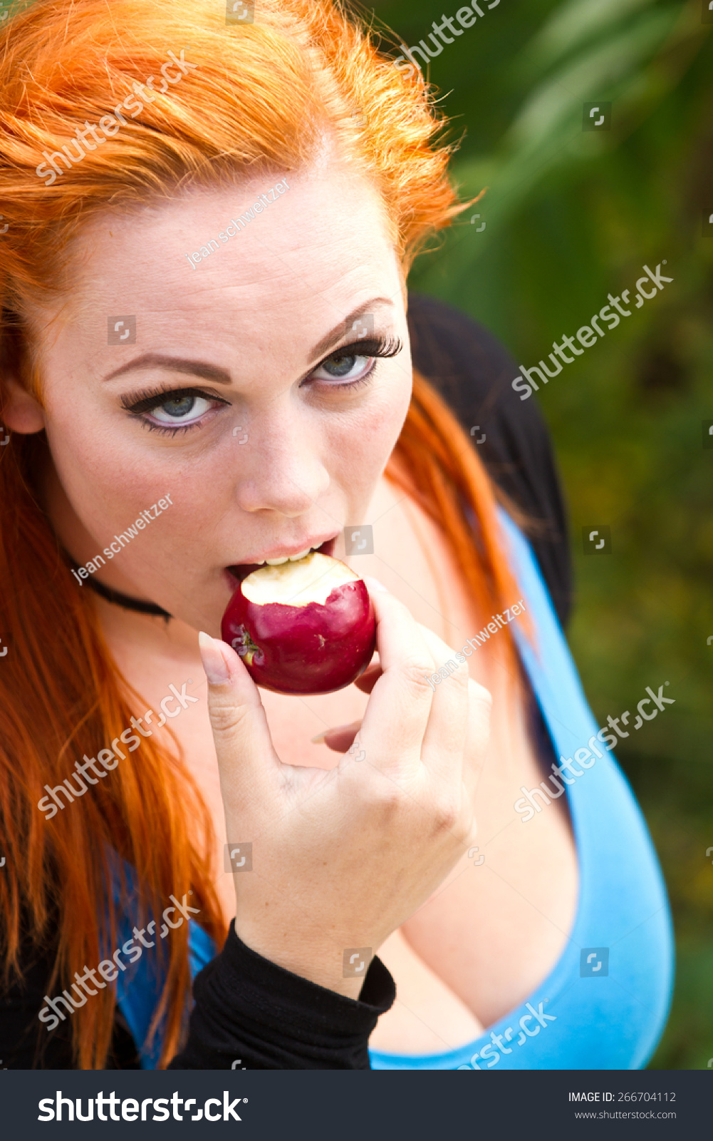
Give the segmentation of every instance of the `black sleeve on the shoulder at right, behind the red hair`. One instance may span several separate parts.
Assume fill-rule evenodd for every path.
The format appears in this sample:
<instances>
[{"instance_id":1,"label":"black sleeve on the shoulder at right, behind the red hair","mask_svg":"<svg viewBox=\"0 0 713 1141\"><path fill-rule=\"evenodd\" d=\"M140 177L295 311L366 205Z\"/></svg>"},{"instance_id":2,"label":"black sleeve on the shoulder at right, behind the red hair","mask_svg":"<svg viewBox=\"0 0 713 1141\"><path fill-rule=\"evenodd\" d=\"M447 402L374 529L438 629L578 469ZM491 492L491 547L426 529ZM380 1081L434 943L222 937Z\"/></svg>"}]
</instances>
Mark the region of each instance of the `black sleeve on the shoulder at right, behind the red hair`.
<instances>
[{"instance_id":1,"label":"black sleeve on the shoulder at right, behind the red hair","mask_svg":"<svg viewBox=\"0 0 713 1141\"><path fill-rule=\"evenodd\" d=\"M482 325L433 298L409 294L413 365L458 415L493 482L519 508L559 621L572 605L567 518L549 432L536 400L511 387L518 369ZM477 444L483 434L485 439Z\"/></svg>"}]
</instances>

